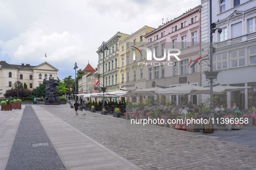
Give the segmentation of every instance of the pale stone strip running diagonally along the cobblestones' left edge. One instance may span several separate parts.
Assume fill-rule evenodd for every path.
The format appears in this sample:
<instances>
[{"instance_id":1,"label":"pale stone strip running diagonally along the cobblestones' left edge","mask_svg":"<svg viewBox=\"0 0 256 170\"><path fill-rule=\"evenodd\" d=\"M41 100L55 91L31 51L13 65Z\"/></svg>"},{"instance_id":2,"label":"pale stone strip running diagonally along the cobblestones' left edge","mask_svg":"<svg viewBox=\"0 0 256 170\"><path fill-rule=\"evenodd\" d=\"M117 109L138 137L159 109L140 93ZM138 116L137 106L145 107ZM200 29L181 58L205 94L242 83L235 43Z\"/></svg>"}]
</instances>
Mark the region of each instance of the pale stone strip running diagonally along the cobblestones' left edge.
<instances>
[{"instance_id":1,"label":"pale stone strip running diagonally along the cobblestones' left edge","mask_svg":"<svg viewBox=\"0 0 256 170\"><path fill-rule=\"evenodd\" d=\"M42 107L41 107L42 108ZM42 108L43 110L45 110L44 108ZM46 112L50 113L49 111L45 110ZM91 112L90 112L91 113ZM50 113L52 116L52 113ZM96 113L97 114L97 113ZM106 116L106 115L105 115ZM57 116L55 116L58 120L61 120L60 118L58 118ZM114 117L116 118L116 117ZM120 119L122 120L122 119ZM123 158L122 156L120 156L119 154L111 151L109 148L105 147L104 145L101 145L99 142L95 141L94 139L91 139L89 136L85 135L83 132L79 131L78 129L75 129L73 126L69 125L68 123L64 122L63 120L61 120L63 123L65 123L66 125L68 125L69 127L71 127L72 129L74 129L75 131L77 131L78 133L80 133L81 135L83 135L84 137L86 137L87 139L91 140L91 142L94 142L95 144L97 144L98 146L100 146L101 148L105 149L106 151L108 151L110 154L113 154L115 157L119 158L120 160L124 161L126 164L129 164L131 167L135 168L136 170L143 170L141 167L137 166L136 164L133 164L131 161L128 161L127 159Z\"/></svg>"}]
</instances>

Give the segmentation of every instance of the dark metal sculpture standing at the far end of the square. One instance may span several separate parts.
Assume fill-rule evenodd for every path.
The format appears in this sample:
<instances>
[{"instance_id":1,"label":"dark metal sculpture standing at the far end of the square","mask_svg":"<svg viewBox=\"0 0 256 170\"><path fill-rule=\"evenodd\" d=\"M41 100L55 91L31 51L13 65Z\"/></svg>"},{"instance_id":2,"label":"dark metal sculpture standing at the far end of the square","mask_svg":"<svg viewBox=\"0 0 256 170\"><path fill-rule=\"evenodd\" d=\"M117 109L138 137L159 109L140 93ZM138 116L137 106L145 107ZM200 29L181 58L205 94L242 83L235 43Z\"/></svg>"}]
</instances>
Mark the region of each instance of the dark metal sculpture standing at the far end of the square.
<instances>
[{"instance_id":1,"label":"dark metal sculpture standing at the far end of the square","mask_svg":"<svg viewBox=\"0 0 256 170\"><path fill-rule=\"evenodd\" d=\"M58 77L57 77L58 79ZM58 85L59 79L55 80L54 78L49 78L49 80L44 79L43 83L45 84L45 100L49 100L49 101L58 101L59 97L58 97L58 89L57 89L57 85Z\"/></svg>"}]
</instances>

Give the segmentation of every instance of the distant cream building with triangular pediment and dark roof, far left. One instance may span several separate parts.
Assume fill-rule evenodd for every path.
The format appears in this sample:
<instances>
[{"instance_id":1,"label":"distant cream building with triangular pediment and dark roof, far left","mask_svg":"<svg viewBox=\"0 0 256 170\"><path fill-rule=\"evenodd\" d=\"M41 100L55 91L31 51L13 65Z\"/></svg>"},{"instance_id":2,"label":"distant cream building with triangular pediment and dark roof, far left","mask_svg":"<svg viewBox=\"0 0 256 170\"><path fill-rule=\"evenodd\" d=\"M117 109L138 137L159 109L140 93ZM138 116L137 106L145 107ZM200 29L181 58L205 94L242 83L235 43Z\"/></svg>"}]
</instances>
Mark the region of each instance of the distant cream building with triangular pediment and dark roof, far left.
<instances>
[{"instance_id":1,"label":"distant cream building with triangular pediment and dark roof, far left","mask_svg":"<svg viewBox=\"0 0 256 170\"><path fill-rule=\"evenodd\" d=\"M13 88L18 80L22 84L26 82L28 89L32 90L42 84L44 79L57 79L57 72L58 69L47 62L30 66L30 64L15 65L0 61L0 98L4 98L5 91Z\"/></svg>"}]
</instances>

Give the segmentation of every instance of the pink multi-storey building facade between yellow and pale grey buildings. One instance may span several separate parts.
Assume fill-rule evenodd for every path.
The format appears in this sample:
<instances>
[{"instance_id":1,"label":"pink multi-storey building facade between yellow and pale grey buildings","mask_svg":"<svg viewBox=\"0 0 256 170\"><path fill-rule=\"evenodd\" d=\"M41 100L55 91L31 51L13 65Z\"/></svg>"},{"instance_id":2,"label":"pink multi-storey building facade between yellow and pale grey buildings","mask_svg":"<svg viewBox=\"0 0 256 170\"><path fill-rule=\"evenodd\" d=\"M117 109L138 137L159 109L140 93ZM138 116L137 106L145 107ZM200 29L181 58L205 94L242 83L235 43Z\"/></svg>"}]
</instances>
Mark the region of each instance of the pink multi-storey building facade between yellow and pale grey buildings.
<instances>
[{"instance_id":1,"label":"pink multi-storey building facade between yellow and pale grey buildings","mask_svg":"<svg viewBox=\"0 0 256 170\"><path fill-rule=\"evenodd\" d=\"M175 87L185 84L201 86L201 66L188 67L190 60L201 56L201 6L159 26L146 34L146 47L152 51L152 60L146 60L146 88ZM168 50L172 49L172 50ZM178 49L178 50L174 50ZM168 54L178 53L177 57ZM146 50L143 50L146 54ZM157 59L157 60L156 60ZM143 64L143 63L141 63ZM201 104L201 96L171 95L166 99L185 104Z\"/></svg>"}]
</instances>

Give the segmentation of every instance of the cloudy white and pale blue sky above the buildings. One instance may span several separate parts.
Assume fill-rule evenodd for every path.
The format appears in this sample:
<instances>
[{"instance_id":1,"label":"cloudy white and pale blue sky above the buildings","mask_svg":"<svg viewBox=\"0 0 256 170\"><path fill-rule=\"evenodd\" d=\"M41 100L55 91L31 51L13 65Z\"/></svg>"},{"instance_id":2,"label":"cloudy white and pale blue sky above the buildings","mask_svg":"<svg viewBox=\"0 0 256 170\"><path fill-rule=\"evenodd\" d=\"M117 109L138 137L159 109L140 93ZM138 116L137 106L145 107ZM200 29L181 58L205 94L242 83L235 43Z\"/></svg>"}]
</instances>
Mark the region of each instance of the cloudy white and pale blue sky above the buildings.
<instances>
[{"instance_id":1,"label":"cloudy white and pale blue sky above the buildings","mask_svg":"<svg viewBox=\"0 0 256 170\"><path fill-rule=\"evenodd\" d=\"M97 48L118 31L131 34L144 25L157 28L194 8L201 0L1 0L0 60L10 64L46 61L59 79L88 60L97 67Z\"/></svg>"}]
</instances>

